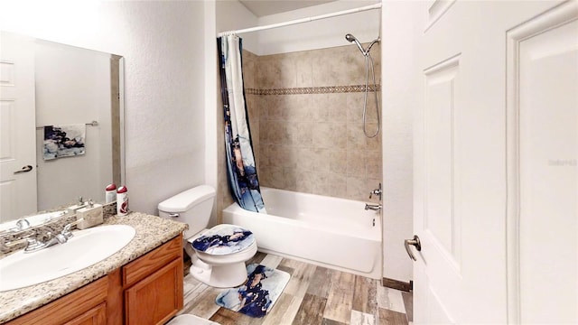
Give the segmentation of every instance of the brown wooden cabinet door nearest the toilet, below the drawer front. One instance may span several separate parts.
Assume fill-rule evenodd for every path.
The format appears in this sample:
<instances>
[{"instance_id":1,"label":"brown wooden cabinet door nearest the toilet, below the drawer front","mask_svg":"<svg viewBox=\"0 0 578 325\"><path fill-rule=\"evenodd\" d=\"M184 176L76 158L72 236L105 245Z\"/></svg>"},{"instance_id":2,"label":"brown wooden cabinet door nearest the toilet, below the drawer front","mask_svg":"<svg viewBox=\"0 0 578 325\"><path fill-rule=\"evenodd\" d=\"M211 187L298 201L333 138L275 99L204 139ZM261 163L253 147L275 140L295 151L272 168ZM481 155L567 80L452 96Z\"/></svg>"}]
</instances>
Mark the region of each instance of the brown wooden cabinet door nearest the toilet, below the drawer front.
<instances>
[{"instance_id":1,"label":"brown wooden cabinet door nearest the toilet, below the drawer front","mask_svg":"<svg viewBox=\"0 0 578 325\"><path fill-rule=\"evenodd\" d=\"M182 259L174 259L125 291L126 323L163 324L182 309Z\"/></svg>"}]
</instances>

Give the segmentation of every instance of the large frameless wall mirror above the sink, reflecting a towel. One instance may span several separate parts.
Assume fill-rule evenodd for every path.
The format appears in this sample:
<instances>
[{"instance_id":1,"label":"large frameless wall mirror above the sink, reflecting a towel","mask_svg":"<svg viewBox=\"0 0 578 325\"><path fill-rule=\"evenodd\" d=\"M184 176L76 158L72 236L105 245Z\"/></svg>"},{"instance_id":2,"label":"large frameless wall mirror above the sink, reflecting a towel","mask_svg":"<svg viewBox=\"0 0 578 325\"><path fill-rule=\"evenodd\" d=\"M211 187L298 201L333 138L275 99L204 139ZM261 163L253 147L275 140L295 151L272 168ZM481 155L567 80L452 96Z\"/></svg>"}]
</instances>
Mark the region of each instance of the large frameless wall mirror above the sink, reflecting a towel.
<instances>
[{"instance_id":1,"label":"large frameless wall mirror above the sink, reflecting a towel","mask_svg":"<svg viewBox=\"0 0 578 325\"><path fill-rule=\"evenodd\" d=\"M124 183L122 57L0 36L0 222L104 202Z\"/></svg>"}]
</instances>

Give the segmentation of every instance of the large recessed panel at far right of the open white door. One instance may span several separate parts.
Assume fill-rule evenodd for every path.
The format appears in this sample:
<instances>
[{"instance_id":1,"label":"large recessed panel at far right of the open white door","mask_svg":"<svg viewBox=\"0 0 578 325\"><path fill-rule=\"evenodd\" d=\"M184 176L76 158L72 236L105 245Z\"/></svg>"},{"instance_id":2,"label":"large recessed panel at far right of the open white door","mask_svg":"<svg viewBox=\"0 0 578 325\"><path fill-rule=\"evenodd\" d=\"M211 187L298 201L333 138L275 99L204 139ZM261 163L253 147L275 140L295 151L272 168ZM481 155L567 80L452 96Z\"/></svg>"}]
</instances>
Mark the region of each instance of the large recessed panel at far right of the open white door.
<instances>
[{"instance_id":1,"label":"large recessed panel at far right of the open white door","mask_svg":"<svg viewBox=\"0 0 578 325\"><path fill-rule=\"evenodd\" d=\"M509 320L577 323L578 3L508 42Z\"/></svg>"}]
</instances>

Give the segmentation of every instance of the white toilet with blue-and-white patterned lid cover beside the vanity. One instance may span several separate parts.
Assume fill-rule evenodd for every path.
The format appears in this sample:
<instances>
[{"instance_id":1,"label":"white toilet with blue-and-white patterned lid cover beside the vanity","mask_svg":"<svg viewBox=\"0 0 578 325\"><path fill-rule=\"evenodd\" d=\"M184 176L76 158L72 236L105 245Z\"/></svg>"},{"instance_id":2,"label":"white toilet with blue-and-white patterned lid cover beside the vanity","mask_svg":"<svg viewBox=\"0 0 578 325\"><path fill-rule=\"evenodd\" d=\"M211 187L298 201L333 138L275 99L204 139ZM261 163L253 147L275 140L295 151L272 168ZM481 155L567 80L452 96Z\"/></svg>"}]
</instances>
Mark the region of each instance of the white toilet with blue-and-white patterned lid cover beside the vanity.
<instances>
[{"instance_id":1,"label":"white toilet with blue-and-white patterned lid cover beside the vanity","mask_svg":"<svg viewBox=\"0 0 578 325\"><path fill-rule=\"evenodd\" d=\"M191 275L217 288L236 287L247 280L245 262L256 254L256 240L247 229L220 224L207 229L215 189L200 185L159 203L159 216L189 225L184 248L191 256Z\"/></svg>"}]
</instances>

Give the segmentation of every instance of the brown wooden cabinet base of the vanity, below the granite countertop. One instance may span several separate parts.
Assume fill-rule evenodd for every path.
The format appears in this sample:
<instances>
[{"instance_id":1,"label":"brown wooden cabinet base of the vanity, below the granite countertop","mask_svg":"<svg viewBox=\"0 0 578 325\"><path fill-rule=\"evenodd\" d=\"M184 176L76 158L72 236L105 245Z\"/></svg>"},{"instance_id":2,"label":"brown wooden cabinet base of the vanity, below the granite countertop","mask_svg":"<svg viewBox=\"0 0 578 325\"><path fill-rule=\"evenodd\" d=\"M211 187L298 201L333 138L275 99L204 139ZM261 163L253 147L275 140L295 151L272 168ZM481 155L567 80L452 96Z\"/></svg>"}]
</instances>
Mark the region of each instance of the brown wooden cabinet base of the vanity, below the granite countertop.
<instances>
[{"instance_id":1,"label":"brown wooden cabinet base of the vanity, below the granite countertop","mask_svg":"<svg viewBox=\"0 0 578 325\"><path fill-rule=\"evenodd\" d=\"M5 325L163 324L182 309L182 235Z\"/></svg>"}]
</instances>

